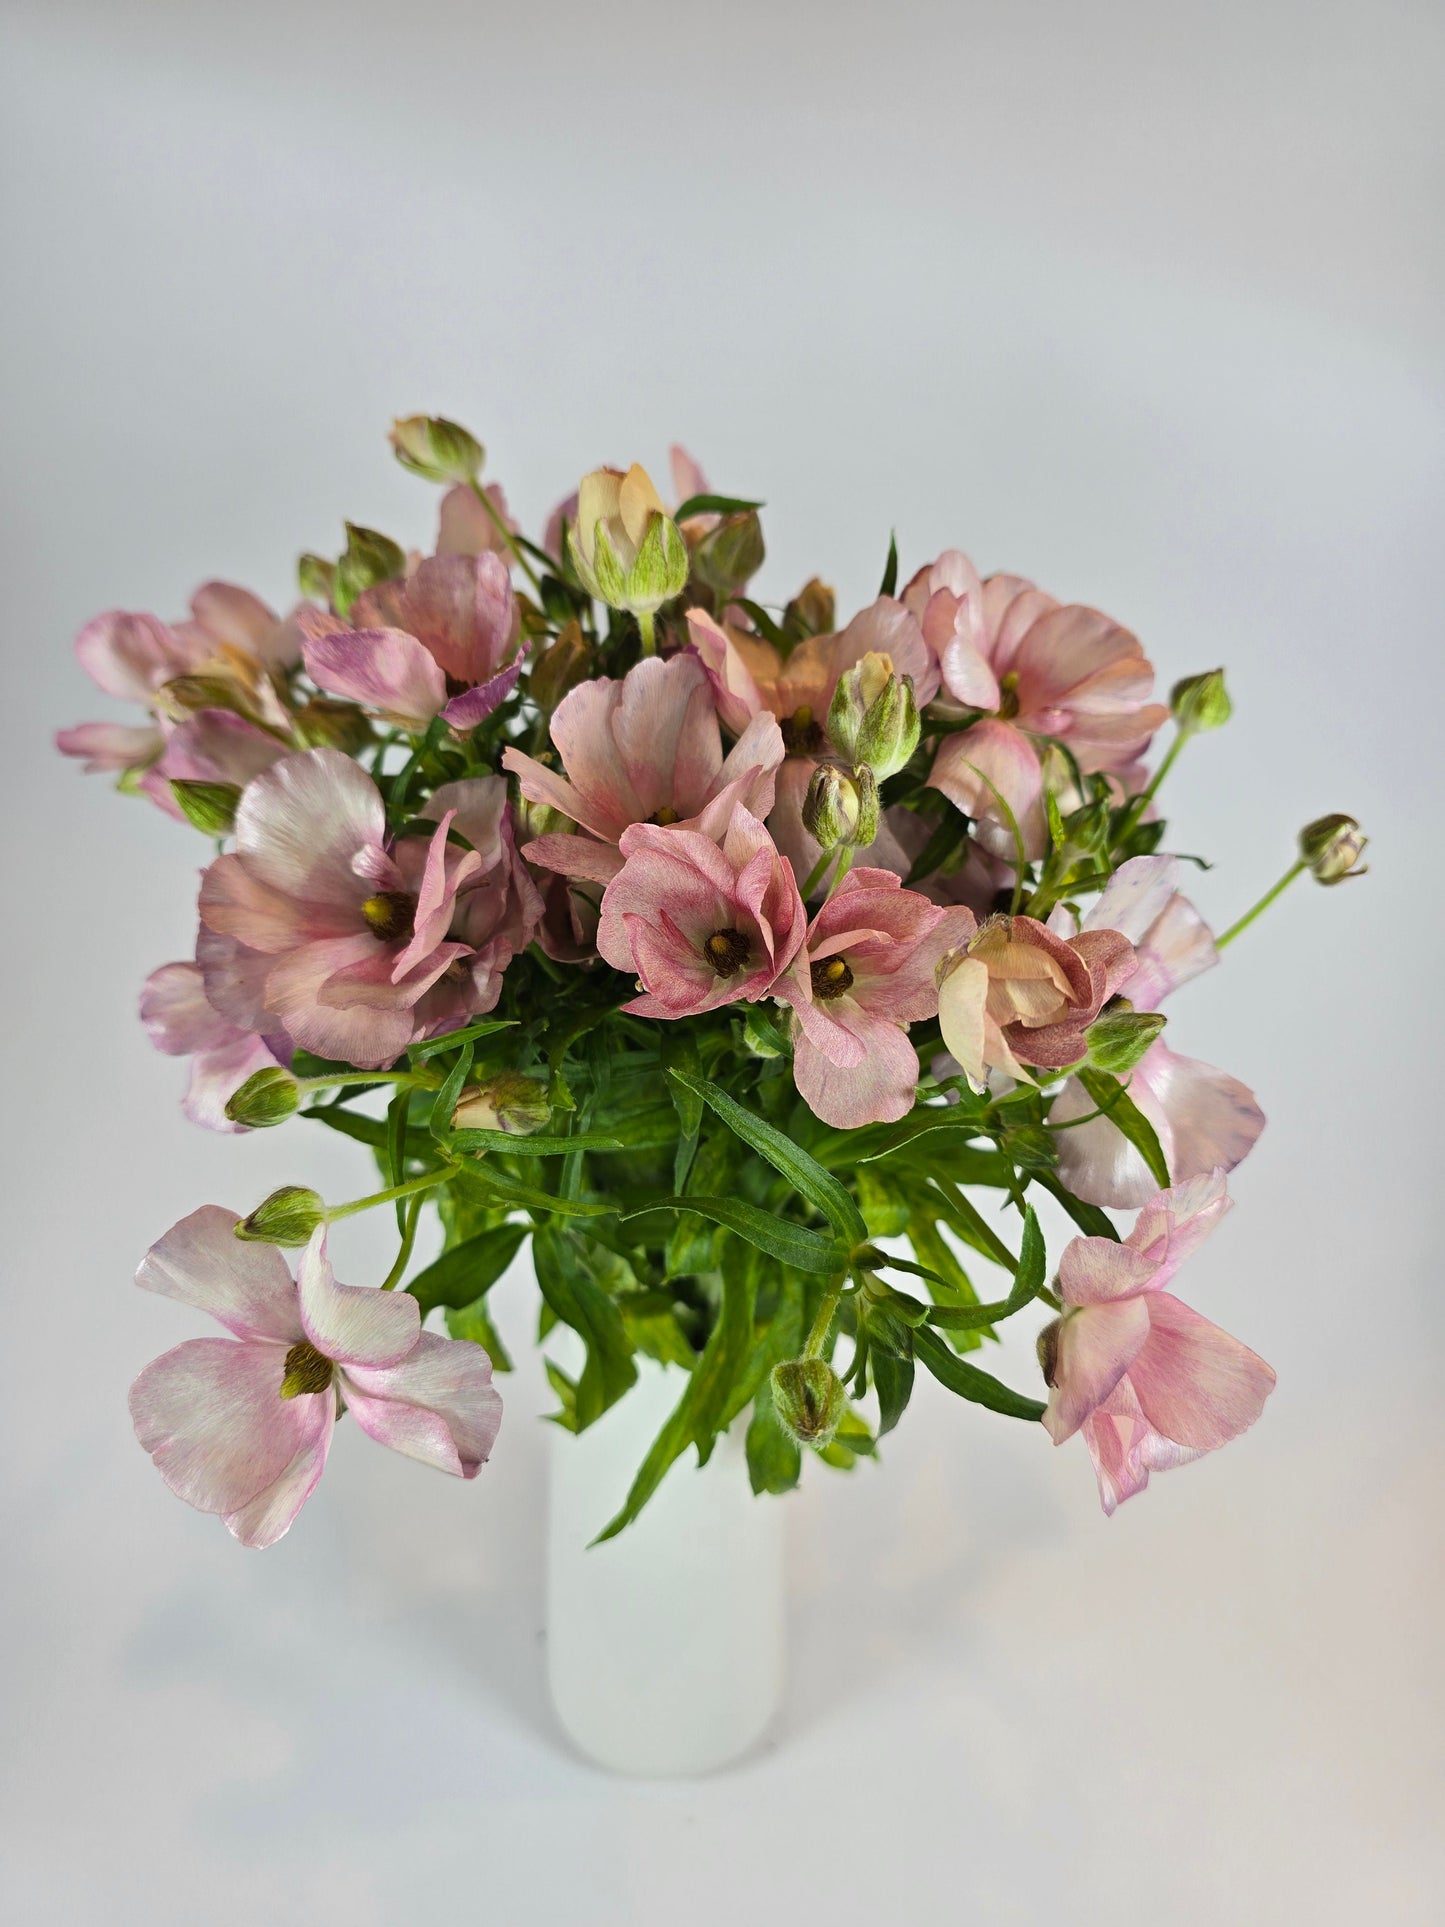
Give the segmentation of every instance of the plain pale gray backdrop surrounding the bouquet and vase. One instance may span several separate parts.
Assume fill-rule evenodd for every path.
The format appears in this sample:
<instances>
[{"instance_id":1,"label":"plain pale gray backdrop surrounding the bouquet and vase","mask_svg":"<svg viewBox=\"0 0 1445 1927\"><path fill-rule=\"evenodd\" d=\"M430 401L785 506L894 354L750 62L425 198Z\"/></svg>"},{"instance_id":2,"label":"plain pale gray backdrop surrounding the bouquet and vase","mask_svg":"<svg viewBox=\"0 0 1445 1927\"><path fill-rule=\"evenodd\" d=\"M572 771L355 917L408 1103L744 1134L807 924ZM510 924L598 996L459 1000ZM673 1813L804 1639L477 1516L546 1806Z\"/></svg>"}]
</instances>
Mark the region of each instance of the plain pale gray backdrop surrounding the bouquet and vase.
<instances>
[{"instance_id":1,"label":"plain pale gray backdrop surrounding the bouquet and vase","mask_svg":"<svg viewBox=\"0 0 1445 1927\"><path fill-rule=\"evenodd\" d=\"M1439 8L2 21L8 1917L1439 1919ZM366 1164L181 1120L133 1006L202 850L52 757L110 713L69 638L212 574L283 601L343 515L428 540L412 409L532 528L680 437L769 499L769 594L861 601L896 522L1166 684L1227 661L1169 784L1216 925L1306 817L1376 838L1171 1010L1270 1112L1187 1293L1277 1366L1264 1422L1106 1524L1079 1447L925 1386L790 1505L784 1717L699 1784L551 1725L534 1368L476 1486L341 1438L266 1557L127 1426L197 1332L146 1243Z\"/></svg>"}]
</instances>

